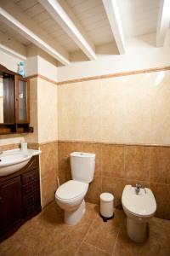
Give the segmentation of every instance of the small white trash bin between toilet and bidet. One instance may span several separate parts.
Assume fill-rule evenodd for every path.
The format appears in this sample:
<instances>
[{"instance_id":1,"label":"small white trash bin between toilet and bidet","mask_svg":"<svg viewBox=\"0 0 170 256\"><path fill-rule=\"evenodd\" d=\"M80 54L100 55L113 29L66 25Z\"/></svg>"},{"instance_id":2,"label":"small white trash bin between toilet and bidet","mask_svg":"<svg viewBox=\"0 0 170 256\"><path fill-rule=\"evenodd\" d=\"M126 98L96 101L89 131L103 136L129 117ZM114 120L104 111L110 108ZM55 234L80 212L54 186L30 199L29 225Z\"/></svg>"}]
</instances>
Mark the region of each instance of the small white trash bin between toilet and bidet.
<instances>
[{"instance_id":1,"label":"small white trash bin between toilet and bidet","mask_svg":"<svg viewBox=\"0 0 170 256\"><path fill-rule=\"evenodd\" d=\"M100 217L107 221L114 217L114 196L111 193L102 193L99 197Z\"/></svg>"}]
</instances>

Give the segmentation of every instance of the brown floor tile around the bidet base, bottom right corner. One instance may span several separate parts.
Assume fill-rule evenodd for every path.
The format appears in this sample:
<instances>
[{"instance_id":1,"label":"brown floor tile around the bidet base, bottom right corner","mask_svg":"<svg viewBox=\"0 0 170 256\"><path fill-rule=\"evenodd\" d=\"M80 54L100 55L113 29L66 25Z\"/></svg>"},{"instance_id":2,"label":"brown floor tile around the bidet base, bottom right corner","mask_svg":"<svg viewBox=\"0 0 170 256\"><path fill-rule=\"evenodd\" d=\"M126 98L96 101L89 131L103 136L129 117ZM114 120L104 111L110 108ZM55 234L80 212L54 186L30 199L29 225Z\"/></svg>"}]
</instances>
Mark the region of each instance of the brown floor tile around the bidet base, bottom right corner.
<instances>
[{"instance_id":1,"label":"brown floor tile around the bidet base, bottom right corner","mask_svg":"<svg viewBox=\"0 0 170 256\"><path fill-rule=\"evenodd\" d=\"M166 222L168 228L166 228ZM168 256L170 255L170 223L169 221L160 221L159 218L153 218L150 221L150 232L146 241L136 243L127 236L126 225L124 224L119 232L115 256ZM168 231L167 231L168 230ZM167 236L168 234L168 236Z\"/></svg>"}]
</instances>

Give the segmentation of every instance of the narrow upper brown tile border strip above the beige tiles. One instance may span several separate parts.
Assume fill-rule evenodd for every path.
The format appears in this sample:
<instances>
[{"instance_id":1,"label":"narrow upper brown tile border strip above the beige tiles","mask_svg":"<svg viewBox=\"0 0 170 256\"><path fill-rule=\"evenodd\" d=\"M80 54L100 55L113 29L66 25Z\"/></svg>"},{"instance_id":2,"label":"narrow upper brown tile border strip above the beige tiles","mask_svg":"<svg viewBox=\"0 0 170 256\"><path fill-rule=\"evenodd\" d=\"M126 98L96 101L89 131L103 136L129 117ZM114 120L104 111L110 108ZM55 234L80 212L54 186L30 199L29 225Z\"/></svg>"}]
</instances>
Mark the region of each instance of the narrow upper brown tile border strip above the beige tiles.
<instances>
[{"instance_id":1,"label":"narrow upper brown tile border strip above the beige tiles","mask_svg":"<svg viewBox=\"0 0 170 256\"><path fill-rule=\"evenodd\" d=\"M40 78L40 79L44 79L44 80L46 80L46 81L48 81L49 83L52 83L52 84L62 85L62 84L73 84L73 83L85 82L85 81L90 81L90 80L98 80L98 79L111 79L111 78L128 76L128 75L135 75L135 74L140 74L140 73L152 73L152 72L167 71L167 70L170 70L170 66L167 66L167 67L153 67L153 68L141 69L141 70L136 70L136 71L127 71L127 72L122 72L122 73L111 73L111 74L99 75L99 76L94 76L94 77L87 77L87 78L82 78L82 79L65 80L65 81L61 81L61 82L56 82L52 79L48 79L47 77L42 76L41 74L35 74L35 75L27 77L26 79Z\"/></svg>"}]
</instances>

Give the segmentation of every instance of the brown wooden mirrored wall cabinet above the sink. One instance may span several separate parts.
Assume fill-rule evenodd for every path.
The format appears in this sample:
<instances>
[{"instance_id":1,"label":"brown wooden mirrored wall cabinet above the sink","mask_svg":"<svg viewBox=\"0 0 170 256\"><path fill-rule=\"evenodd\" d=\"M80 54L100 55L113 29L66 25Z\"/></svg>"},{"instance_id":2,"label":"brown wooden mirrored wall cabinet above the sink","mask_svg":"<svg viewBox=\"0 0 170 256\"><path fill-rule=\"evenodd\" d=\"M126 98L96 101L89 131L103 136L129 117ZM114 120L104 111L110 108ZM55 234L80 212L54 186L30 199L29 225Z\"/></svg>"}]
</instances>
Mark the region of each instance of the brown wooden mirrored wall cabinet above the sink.
<instances>
[{"instance_id":1,"label":"brown wooden mirrored wall cabinet above the sink","mask_svg":"<svg viewBox=\"0 0 170 256\"><path fill-rule=\"evenodd\" d=\"M0 65L0 134L32 132L29 81Z\"/></svg>"}]
</instances>

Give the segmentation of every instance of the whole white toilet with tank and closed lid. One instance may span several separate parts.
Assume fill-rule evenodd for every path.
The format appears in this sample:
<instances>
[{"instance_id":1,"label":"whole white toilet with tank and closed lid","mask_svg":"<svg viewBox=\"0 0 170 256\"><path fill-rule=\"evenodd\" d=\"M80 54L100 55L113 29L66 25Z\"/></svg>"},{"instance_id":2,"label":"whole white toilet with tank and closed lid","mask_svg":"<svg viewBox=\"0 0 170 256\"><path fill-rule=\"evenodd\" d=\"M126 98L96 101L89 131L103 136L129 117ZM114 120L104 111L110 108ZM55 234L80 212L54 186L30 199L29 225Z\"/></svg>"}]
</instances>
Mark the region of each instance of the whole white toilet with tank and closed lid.
<instances>
[{"instance_id":1,"label":"whole white toilet with tank and closed lid","mask_svg":"<svg viewBox=\"0 0 170 256\"><path fill-rule=\"evenodd\" d=\"M94 179L95 154L73 152L71 157L71 177L59 186L55 192L55 201L65 211L65 223L77 224L84 215L84 197L88 184Z\"/></svg>"}]
</instances>

